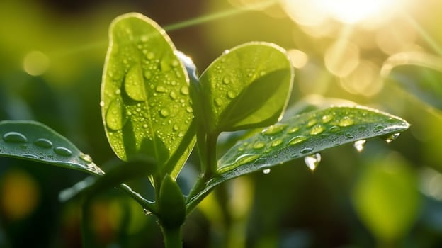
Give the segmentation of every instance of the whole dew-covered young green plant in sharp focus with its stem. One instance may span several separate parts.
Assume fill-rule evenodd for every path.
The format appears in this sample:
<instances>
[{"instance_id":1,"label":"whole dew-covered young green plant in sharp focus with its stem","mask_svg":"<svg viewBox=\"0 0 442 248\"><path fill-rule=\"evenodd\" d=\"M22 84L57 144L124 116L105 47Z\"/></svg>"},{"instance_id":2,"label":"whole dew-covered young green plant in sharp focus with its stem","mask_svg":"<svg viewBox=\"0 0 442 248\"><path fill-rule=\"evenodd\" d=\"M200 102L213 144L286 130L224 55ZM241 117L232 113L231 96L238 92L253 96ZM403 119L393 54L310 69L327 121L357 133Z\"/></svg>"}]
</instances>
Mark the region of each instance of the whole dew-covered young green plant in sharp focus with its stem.
<instances>
[{"instance_id":1,"label":"whole dew-covered young green plant in sharp focus with its stem","mask_svg":"<svg viewBox=\"0 0 442 248\"><path fill-rule=\"evenodd\" d=\"M0 122L0 155L77 169L92 176L63 191L66 200L118 186L158 218L166 247L181 247L181 226L193 208L229 179L268 172L299 157L314 169L318 152L372 137L397 137L409 124L361 106L334 106L280 121L293 85L283 48L246 43L227 50L200 75L157 23L139 13L113 21L101 87L108 141L123 161L106 174L69 140L33 121ZM280 122L278 122L280 121ZM222 157L222 132L257 129ZM193 147L200 176L188 196L176 184ZM155 199L123 184L148 176Z\"/></svg>"}]
</instances>

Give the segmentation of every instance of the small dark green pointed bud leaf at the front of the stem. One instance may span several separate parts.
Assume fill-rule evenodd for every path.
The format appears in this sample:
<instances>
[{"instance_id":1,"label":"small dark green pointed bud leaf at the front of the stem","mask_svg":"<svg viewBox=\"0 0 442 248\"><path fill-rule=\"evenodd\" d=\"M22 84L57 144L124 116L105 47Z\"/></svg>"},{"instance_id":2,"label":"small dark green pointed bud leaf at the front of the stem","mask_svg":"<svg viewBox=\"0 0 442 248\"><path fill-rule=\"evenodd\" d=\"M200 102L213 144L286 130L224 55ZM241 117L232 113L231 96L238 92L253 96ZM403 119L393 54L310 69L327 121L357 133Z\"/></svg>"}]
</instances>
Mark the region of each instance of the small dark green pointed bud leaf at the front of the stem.
<instances>
[{"instance_id":1,"label":"small dark green pointed bud leaf at the front of the stem","mask_svg":"<svg viewBox=\"0 0 442 248\"><path fill-rule=\"evenodd\" d=\"M159 221L162 227L181 227L186 220L186 203L183 193L171 176L164 176L158 199Z\"/></svg>"}]
</instances>

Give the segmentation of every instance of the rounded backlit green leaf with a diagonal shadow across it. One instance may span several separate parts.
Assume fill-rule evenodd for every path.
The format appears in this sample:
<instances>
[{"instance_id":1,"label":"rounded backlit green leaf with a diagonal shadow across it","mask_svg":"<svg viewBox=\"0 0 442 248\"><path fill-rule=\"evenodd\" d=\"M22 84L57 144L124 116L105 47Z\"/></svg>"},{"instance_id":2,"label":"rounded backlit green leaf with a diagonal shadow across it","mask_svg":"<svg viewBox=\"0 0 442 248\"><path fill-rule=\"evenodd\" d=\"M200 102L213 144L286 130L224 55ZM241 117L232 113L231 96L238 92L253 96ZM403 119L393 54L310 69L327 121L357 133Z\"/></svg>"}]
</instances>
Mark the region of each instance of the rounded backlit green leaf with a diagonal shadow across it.
<instances>
[{"instance_id":1,"label":"rounded backlit green leaf with a diagonal shadow across it","mask_svg":"<svg viewBox=\"0 0 442 248\"><path fill-rule=\"evenodd\" d=\"M293 67L277 45L246 43L225 52L200 77L208 133L275 123L292 85Z\"/></svg>"}]
</instances>

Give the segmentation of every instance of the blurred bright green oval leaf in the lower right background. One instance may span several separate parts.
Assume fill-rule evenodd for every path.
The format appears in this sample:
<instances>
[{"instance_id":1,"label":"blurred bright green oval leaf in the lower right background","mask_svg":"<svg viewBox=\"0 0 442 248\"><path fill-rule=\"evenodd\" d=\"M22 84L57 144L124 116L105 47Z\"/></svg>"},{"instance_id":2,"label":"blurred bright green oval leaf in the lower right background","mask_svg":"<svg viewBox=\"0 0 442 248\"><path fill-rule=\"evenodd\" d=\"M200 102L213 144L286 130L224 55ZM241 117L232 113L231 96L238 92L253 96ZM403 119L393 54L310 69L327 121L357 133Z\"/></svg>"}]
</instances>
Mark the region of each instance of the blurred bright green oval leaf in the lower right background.
<instances>
[{"instance_id":1,"label":"blurred bright green oval leaf in the lower right background","mask_svg":"<svg viewBox=\"0 0 442 248\"><path fill-rule=\"evenodd\" d=\"M378 241L397 242L417 217L416 173L395 154L374 159L356 182L352 200L359 218Z\"/></svg>"}]
</instances>

